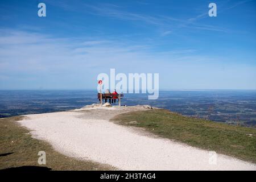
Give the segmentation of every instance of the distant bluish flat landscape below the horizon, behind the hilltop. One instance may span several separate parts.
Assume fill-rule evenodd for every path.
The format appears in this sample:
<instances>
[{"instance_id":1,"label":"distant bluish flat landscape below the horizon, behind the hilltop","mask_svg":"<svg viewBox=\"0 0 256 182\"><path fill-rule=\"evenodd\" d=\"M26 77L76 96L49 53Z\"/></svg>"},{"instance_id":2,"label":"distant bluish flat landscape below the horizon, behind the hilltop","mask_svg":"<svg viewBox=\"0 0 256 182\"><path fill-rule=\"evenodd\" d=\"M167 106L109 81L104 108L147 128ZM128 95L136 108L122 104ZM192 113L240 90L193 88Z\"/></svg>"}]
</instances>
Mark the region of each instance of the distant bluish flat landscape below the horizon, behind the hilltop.
<instances>
[{"instance_id":1,"label":"distant bluish flat landscape below the horizon, behind the hilltop","mask_svg":"<svg viewBox=\"0 0 256 182\"><path fill-rule=\"evenodd\" d=\"M1 90L0 118L77 109L98 102L95 90ZM158 100L125 94L122 105L162 107L183 115L256 126L256 90L162 90Z\"/></svg>"}]
</instances>

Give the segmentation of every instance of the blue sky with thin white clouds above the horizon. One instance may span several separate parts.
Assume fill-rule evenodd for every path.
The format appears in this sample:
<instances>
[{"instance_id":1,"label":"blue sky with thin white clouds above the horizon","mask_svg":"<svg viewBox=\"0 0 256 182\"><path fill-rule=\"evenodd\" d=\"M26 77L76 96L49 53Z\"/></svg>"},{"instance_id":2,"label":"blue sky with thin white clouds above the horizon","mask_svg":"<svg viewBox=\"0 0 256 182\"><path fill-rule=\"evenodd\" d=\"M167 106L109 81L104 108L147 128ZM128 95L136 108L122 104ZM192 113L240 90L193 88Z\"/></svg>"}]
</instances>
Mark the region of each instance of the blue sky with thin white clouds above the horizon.
<instances>
[{"instance_id":1,"label":"blue sky with thin white clouds above the horizon","mask_svg":"<svg viewBox=\"0 0 256 182\"><path fill-rule=\"evenodd\" d=\"M1 1L0 89L96 89L110 68L159 73L160 89L256 89L255 20L247 0Z\"/></svg>"}]
</instances>

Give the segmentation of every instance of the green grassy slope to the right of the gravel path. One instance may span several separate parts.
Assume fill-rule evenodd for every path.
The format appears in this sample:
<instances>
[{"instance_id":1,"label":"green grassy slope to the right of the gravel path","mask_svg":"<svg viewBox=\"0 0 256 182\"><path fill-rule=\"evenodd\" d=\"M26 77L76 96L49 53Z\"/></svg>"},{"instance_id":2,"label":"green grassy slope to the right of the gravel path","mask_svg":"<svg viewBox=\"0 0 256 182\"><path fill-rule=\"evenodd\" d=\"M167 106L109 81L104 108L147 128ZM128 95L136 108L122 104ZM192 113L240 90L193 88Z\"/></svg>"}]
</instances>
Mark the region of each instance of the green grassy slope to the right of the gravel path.
<instances>
[{"instance_id":1,"label":"green grassy slope to the right of the gravel path","mask_svg":"<svg viewBox=\"0 0 256 182\"><path fill-rule=\"evenodd\" d=\"M112 121L143 127L160 137L256 163L255 128L184 117L163 109L120 114Z\"/></svg>"}]
</instances>

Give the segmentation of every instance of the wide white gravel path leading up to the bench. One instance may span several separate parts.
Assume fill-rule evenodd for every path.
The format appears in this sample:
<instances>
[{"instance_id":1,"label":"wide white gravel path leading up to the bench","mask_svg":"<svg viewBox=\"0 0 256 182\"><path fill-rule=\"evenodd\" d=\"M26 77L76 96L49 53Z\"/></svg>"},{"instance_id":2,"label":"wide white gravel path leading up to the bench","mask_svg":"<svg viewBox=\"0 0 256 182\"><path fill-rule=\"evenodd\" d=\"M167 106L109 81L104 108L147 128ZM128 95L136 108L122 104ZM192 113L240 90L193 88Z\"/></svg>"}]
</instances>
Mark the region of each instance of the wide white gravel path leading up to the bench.
<instances>
[{"instance_id":1,"label":"wide white gravel path leading up to the bench","mask_svg":"<svg viewBox=\"0 0 256 182\"><path fill-rule=\"evenodd\" d=\"M35 138L47 140L65 155L124 170L256 170L255 164L225 155L217 155L217 164L210 164L209 160L214 162L214 158L210 158L209 151L139 134L107 120L113 117L113 111L129 111L126 108L32 114L19 123L32 130ZM134 109L143 108L130 108Z\"/></svg>"}]
</instances>

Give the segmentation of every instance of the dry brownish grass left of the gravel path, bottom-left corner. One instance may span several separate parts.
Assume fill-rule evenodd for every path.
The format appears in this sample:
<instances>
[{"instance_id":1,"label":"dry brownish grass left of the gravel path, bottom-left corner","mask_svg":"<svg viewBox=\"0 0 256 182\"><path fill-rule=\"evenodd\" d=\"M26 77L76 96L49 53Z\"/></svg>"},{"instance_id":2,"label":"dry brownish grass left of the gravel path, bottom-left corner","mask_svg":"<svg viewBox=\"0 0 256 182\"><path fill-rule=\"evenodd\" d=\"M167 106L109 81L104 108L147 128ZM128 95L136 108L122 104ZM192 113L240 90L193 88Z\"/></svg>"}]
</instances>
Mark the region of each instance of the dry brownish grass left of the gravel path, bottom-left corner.
<instances>
[{"instance_id":1,"label":"dry brownish grass left of the gravel path, bottom-left corner","mask_svg":"<svg viewBox=\"0 0 256 182\"><path fill-rule=\"evenodd\" d=\"M0 119L0 169L40 166L52 170L110 170L114 167L70 158L53 150L43 140L34 139L16 122L22 116ZM46 165L38 164L38 152L46 152Z\"/></svg>"}]
</instances>

